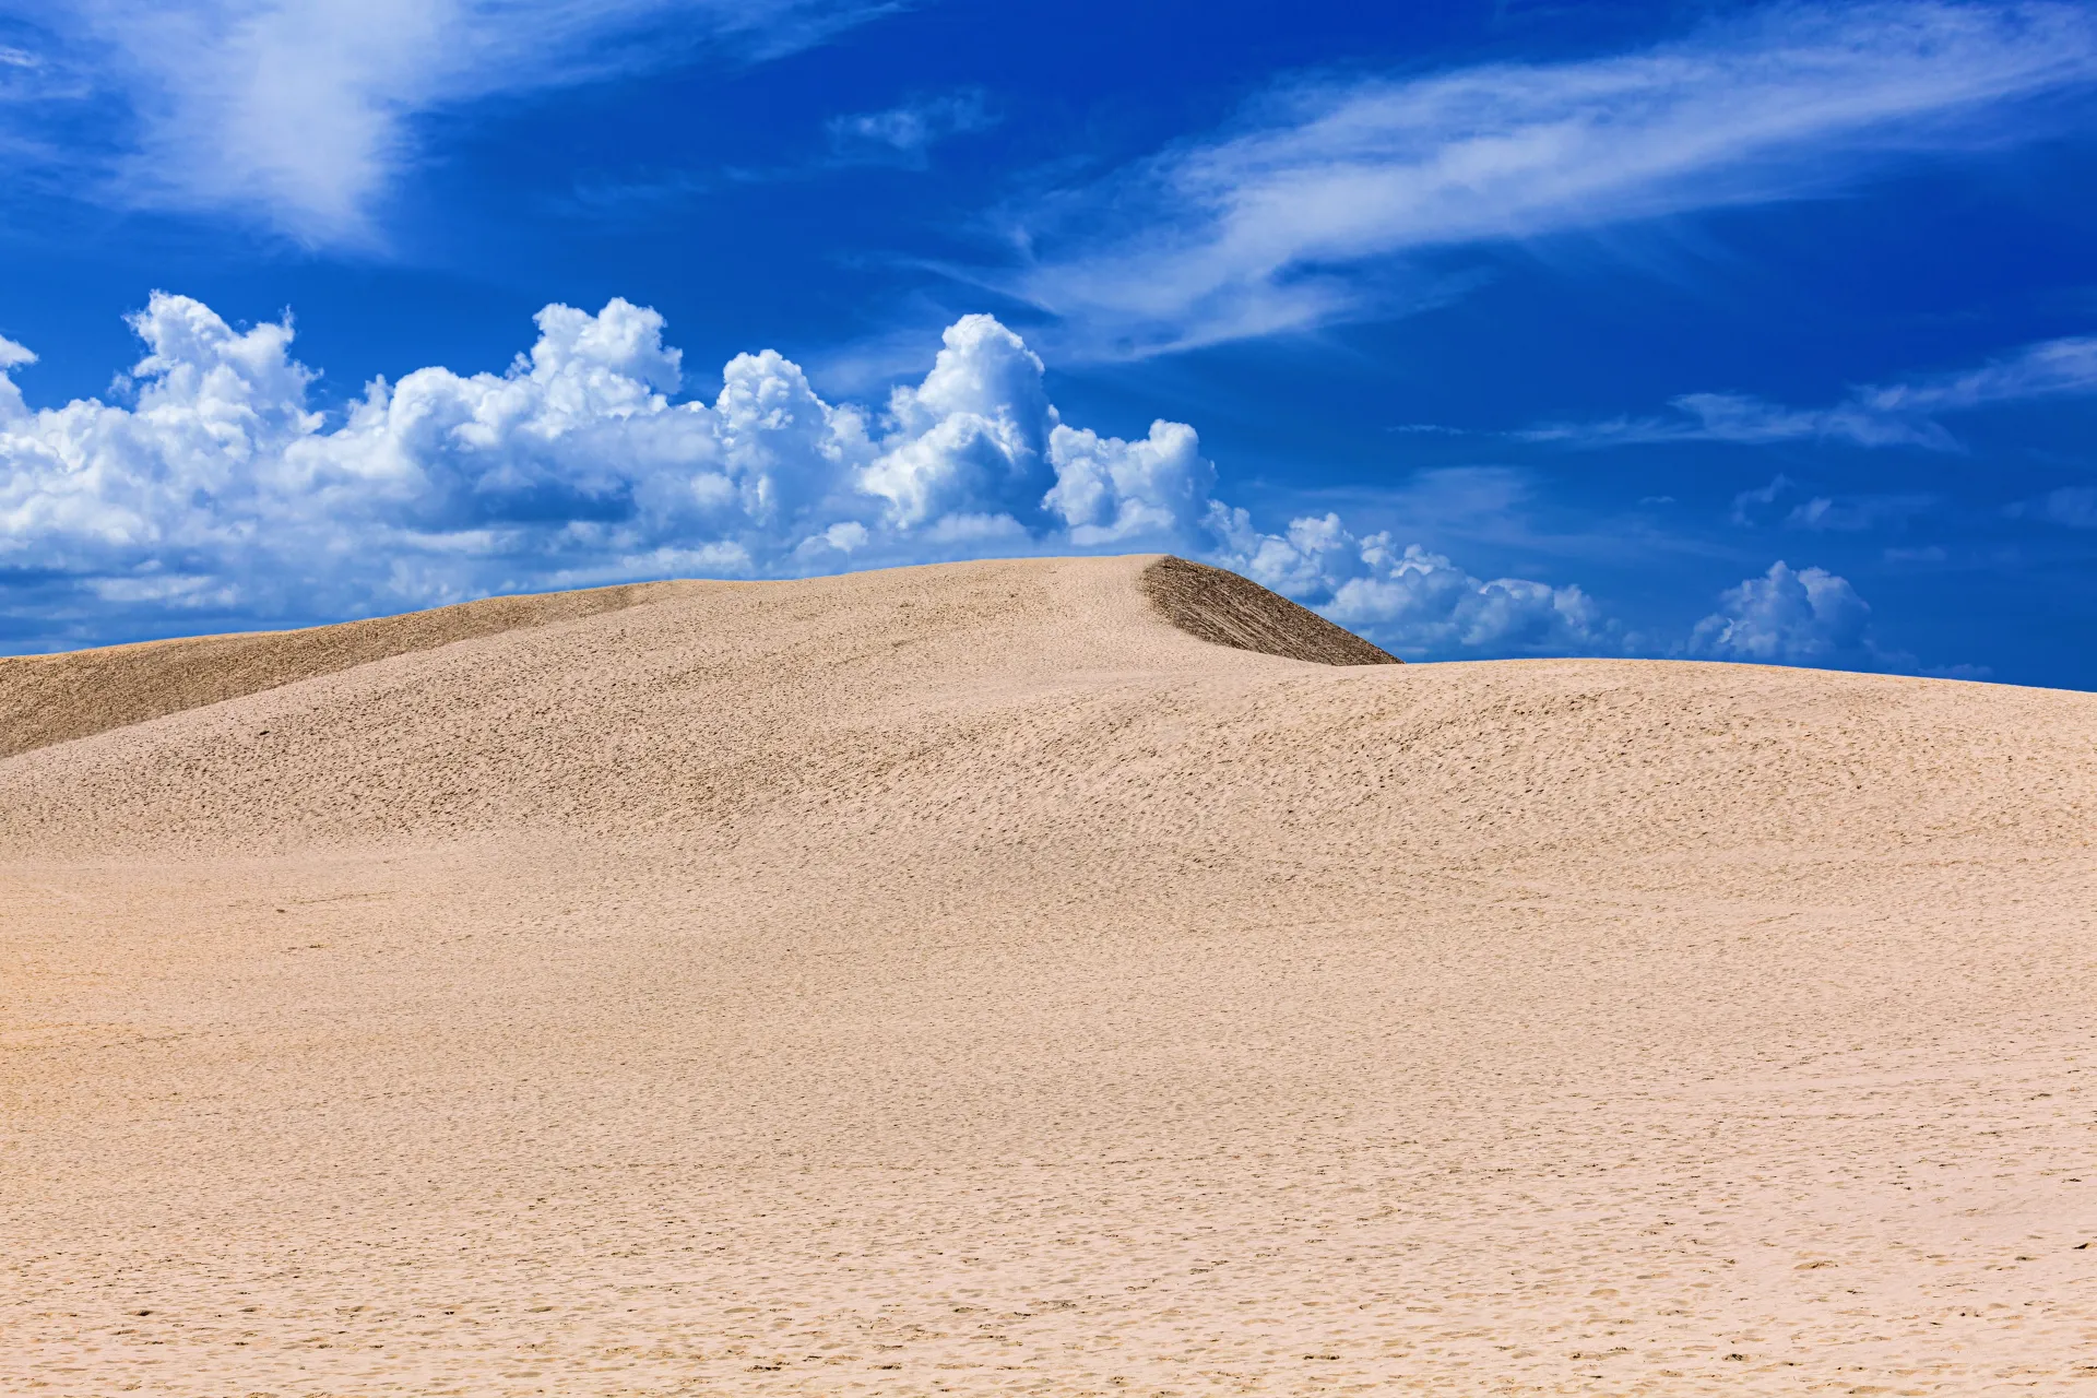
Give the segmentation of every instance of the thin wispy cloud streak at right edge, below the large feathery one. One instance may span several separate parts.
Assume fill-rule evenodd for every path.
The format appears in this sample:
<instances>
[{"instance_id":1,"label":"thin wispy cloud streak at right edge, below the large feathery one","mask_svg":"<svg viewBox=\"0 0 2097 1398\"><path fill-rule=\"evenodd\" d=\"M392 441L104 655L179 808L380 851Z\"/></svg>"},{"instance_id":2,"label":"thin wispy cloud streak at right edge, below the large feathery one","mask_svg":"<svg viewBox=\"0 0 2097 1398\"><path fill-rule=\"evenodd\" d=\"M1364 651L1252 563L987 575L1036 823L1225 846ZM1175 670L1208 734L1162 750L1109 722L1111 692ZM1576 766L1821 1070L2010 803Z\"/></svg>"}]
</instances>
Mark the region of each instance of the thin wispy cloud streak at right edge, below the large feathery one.
<instances>
[{"instance_id":1,"label":"thin wispy cloud streak at right edge, below the large feathery one","mask_svg":"<svg viewBox=\"0 0 2097 1398\"><path fill-rule=\"evenodd\" d=\"M1673 413L1613 417L1590 423L1545 423L1516 432L1529 442L1617 446L1625 442L1801 442L1833 440L1858 446L1921 446L1961 451L1940 417L2001 402L2097 394L2097 335L2045 340L1977 369L1868 384L1841 402L1795 409L1751 394L1684 394Z\"/></svg>"}]
</instances>

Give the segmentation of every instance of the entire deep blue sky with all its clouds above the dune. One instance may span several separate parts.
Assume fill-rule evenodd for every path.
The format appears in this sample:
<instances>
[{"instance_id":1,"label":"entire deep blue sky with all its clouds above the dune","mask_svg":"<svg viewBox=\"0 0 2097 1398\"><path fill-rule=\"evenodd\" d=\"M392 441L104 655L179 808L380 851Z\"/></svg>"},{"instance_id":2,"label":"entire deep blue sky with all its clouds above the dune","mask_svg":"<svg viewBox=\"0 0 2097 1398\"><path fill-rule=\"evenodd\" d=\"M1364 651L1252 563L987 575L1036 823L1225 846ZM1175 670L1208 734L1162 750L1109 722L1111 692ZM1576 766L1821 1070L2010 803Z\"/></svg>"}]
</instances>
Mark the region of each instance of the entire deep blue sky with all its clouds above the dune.
<instances>
[{"instance_id":1,"label":"entire deep blue sky with all its clouds above the dune","mask_svg":"<svg viewBox=\"0 0 2097 1398\"><path fill-rule=\"evenodd\" d=\"M1172 549L2097 687L2087 4L0 0L0 652Z\"/></svg>"}]
</instances>

